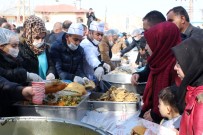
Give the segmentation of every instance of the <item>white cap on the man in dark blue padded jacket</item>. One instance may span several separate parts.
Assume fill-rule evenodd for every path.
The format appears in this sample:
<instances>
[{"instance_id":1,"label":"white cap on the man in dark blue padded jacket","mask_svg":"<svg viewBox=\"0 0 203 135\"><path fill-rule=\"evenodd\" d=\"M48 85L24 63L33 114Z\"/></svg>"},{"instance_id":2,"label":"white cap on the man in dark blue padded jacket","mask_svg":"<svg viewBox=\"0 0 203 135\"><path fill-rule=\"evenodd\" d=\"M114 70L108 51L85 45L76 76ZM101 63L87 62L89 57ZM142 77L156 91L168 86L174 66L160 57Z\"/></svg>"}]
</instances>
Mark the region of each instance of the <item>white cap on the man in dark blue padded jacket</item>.
<instances>
[{"instance_id":1,"label":"white cap on the man in dark blue padded jacket","mask_svg":"<svg viewBox=\"0 0 203 135\"><path fill-rule=\"evenodd\" d=\"M81 23L72 23L68 28L67 33L83 36L83 32L84 32L84 29Z\"/></svg>"}]
</instances>

